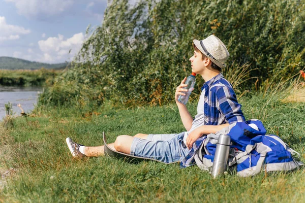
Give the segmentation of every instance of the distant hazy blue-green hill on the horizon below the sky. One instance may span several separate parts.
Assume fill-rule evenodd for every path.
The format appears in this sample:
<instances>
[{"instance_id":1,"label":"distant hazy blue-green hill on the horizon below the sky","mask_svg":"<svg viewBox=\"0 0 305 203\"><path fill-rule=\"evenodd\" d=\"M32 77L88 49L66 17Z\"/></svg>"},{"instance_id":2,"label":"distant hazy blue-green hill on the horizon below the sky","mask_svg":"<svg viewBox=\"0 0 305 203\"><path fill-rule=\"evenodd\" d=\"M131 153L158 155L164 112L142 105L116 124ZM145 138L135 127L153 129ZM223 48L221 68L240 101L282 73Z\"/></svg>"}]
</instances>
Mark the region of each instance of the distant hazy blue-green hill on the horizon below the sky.
<instances>
[{"instance_id":1,"label":"distant hazy blue-green hill on the horizon below the sky","mask_svg":"<svg viewBox=\"0 0 305 203\"><path fill-rule=\"evenodd\" d=\"M68 62L65 63L40 63L34 61L23 60L20 58L0 56L0 69L16 70L16 69L27 69L36 70L44 67L45 69L65 69Z\"/></svg>"}]
</instances>

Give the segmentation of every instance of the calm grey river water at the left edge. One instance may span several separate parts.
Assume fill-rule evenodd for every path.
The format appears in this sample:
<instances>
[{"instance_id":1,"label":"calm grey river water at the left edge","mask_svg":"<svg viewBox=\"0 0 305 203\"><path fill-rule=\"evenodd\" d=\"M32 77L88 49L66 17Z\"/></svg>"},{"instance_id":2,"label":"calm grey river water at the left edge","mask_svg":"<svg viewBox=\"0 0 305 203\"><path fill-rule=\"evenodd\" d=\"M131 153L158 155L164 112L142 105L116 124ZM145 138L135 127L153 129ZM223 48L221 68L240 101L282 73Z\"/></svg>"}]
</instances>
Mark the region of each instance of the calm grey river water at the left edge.
<instances>
[{"instance_id":1,"label":"calm grey river water at the left edge","mask_svg":"<svg viewBox=\"0 0 305 203\"><path fill-rule=\"evenodd\" d=\"M5 117L5 104L10 103L13 107L14 116L19 116L21 109L17 107L21 105L25 113L31 113L34 105L37 104L39 92L42 88L39 87L5 87L0 86L0 120Z\"/></svg>"}]
</instances>

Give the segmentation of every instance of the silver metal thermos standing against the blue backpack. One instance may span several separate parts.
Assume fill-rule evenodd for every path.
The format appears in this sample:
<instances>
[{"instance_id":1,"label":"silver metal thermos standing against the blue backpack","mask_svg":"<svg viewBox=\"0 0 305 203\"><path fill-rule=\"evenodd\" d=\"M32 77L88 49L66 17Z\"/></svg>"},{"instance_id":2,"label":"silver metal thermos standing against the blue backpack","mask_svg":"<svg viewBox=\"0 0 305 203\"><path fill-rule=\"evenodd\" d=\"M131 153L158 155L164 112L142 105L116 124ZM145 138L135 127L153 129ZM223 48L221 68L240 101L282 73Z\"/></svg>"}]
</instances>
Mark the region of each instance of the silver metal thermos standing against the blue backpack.
<instances>
[{"instance_id":1,"label":"silver metal thermos standing against the blue backpack","mask_svg":"<svg viewBox=\"0 0 305 203\"><path fill-rule=\"evenodd\" d=\"M223 175L227 170L227 162L230 151L231 138L226 134L221 134L218 139L216 146L215 157L212 166L211 176L216 178L217 176Z\"/></svg>"}]
</instances>

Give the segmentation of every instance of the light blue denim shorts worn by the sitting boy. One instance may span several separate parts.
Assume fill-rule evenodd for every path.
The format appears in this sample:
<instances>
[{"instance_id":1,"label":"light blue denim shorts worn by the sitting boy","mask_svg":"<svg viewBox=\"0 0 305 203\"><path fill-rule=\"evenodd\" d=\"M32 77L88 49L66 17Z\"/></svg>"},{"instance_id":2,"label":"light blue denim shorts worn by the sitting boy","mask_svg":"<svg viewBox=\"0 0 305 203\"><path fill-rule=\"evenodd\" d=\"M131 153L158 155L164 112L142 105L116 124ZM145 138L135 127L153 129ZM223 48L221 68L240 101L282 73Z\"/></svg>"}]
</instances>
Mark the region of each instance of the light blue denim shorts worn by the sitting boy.
<instances>
[{"instance_id":1,"label":"light blue denim shorts worn by the sitting boy","mask_svg":"<svg viewBox=\"0 0 305 203\"><path fill-rule=\"evenodd\" d=\"M134 138L130 154L157 159L165 163L180 162L190 152L182 146L185 132L178 134L148 134L147 139Z\"/></svg>"}]
</instances>

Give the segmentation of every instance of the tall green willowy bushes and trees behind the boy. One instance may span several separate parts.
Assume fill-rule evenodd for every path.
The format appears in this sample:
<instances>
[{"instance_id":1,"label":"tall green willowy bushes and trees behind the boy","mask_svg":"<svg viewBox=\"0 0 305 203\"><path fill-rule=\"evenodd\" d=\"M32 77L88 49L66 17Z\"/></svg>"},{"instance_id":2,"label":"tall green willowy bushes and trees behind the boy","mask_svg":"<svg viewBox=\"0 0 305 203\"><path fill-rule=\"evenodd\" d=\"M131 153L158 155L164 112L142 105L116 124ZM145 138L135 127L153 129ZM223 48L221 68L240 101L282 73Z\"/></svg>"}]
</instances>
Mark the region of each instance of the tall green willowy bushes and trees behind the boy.
<instances>
[{"instance_id":1,"label":"tall green willowy bushes and trees behind the boy","mask_svg":"<svg viewBox=\"0 0 305 203\"><path fill-rule=\"evenodd\" d=\"M304 0L143 0L134 7L114 0L101 26L88 27L72 68L43 94L49 105L163 105L190 75L192 40L215 34L227 45L224 75L237 92L266 88L295 77L305 66ZM239 77L239 76L242 77ZM203 80L197 76L193 95ZM52 95L74 93L64 100ZM70 92L70 90L69 90Z\"/></svg>"}]
</instances>

